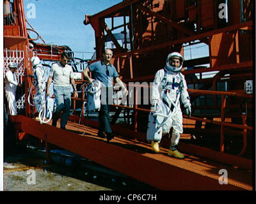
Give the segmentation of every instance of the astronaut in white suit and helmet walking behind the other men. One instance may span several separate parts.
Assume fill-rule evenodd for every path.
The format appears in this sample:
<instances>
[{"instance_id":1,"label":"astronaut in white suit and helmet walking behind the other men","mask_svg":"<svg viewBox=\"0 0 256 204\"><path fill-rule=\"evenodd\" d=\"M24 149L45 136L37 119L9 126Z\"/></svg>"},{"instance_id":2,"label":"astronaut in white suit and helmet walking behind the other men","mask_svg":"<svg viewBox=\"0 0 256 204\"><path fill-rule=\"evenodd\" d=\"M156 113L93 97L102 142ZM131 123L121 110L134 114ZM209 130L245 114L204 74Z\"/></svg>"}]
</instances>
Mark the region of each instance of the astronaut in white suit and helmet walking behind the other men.
<instances>
[{"instance_id":1,"label":"astronaut in white suit and helmet walking behind the other men","mask_svg":"<svg viewBox=\"0 0 256 204\"><path fill-rule=\"evenodd\" d=\"M46 70L44 66L42 66L39 57L32 57L31 62L33 65L34 79L36 83L36 94L33 98L33 103L36 106L36 110L40 112L42 106L45 103L45 90L47 85Z\"/></svg>"}]
</instances>

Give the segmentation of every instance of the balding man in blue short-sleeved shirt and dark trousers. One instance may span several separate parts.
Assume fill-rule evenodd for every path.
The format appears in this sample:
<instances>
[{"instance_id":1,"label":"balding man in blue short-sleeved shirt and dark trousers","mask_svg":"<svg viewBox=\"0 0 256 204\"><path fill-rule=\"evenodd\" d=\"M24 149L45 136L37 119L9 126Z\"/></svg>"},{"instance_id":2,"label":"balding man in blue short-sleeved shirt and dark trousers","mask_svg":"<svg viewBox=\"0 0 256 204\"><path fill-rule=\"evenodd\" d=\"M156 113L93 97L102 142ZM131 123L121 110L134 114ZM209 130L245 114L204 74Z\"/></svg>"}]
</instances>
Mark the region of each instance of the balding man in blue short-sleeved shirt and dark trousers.
<instances>
[{"instance_id":1,"label":"balding man in blue short-sleeved shirt and dark trousers","mask_svg":"<svg viewBox=\"0 0 256 204\"><path fill-rule=\"evenodd\" d=\"M84 78L92 83L93 80L99 80L101 82L101 104L99 111L99 132L98 136L107 138L110 141L113 138L110 118L109 118L109 110L111 108L111 97L113 96L113 79L115 79L116 83L118 83L122 89L124 89L125 94L128 94L128 91L123 84L122 80L118 77L118 73L116 71L115 66L110 63L113 57L113 52L110 49L106 49L103 54L103 60L94 62L90 64L83 71ZM92 78L89 77L89 72L92 72ZM109 100L110 99L110 100ZM106 135L104 135L104 133Z\"/></svg>"}]
</instances>

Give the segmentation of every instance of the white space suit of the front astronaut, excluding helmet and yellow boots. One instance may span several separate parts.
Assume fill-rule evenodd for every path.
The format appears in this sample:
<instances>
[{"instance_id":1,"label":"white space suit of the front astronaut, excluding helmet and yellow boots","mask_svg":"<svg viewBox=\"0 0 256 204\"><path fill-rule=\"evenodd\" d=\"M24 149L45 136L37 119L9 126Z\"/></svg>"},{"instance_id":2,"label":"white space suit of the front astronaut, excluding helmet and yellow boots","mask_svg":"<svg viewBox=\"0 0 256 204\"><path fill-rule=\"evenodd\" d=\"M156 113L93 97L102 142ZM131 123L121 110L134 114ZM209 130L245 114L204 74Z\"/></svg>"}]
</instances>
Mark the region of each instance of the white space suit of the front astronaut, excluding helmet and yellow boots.
<instances>
[{"instance_id":1,"label":"white space suit of the front astronaut, excluding helmet and yellow boots","mask_svg":"<svg viewBox=\"0 0 256 204\"><path fill-rule=\"evenodd\" d=\"M166 119L166 123L163 126L163 135L168 134L170 129L173 128L172 145L178 145L180 134L183 132L182 111L180 109L180 101L177 101L179 100L179 95L185 108L191 106L187 89L186 80L182 73L173 72L166 68L157 71L152 86L152 101L153 103L157 101L156 108L159 108L159 113L169 115L170 110L174 112L171 117ZM177 111L174 110L175 108L170 99L173 103L177 101Z\"/></svg>"}]
</instances>

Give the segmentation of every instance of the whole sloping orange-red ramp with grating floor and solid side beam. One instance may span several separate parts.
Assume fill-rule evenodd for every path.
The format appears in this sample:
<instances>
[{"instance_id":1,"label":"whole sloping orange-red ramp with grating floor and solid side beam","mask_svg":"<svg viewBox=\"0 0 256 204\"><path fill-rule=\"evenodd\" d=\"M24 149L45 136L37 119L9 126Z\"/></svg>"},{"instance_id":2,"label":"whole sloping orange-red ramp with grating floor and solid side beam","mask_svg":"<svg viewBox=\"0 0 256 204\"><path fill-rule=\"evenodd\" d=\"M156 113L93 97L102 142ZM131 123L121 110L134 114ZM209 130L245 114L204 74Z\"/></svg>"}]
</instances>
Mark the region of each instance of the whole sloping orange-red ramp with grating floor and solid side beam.
<instances>
[{"instance_id":1,"label":"whole sloping orange-red ramp with grating floor and solid side beam","mask_svg":"<svg viewBox=\"0 0 256 204\"><path fill-rule=\"evenodd\" d=\"M84 156L162 190L249 190L252 171L234 168L209 159L185 154L184 159L156 154L150 144L116 135L111 142L97 137L97 129L68 122L66 128L52 127L24 116L13 117L16 129L45 142ZM60 126L58 124L57 126ZM227 170L228 184L220 184L221 169Z\"/></svg>"}]
</instances>

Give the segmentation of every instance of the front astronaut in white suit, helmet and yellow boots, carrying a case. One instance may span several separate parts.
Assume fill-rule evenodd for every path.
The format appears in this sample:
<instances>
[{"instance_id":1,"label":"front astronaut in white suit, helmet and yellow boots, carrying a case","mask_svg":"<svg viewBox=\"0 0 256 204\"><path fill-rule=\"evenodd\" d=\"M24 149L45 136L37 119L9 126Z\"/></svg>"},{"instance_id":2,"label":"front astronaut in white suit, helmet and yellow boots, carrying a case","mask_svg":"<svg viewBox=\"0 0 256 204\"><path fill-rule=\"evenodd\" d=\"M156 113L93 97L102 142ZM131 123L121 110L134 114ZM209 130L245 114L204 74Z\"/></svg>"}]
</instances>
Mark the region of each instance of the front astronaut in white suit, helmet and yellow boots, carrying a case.
<instances>
[{"instance_id":1,"label":"front astronaut in white suit, helmet and yellow boots, carrying a case","mask_svg":"<svg viewBox=\"0 0 256 204\"><path fill-rule=\"evenodd\" d=\"M166 66L157 71L152 85L152 112L148 117L147 130L147 140L151 141L152 149L159 152L162 136L173 128L168 155L180 159L184 158L184 154L177 150L180 134L183 132L180 101L189 117L191 116L188 87L184 75L180 73L183 61L179 52L172 52L166 59Z\"/></svg>"}]
</instances>

